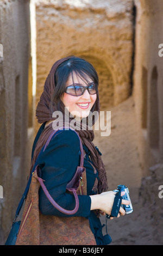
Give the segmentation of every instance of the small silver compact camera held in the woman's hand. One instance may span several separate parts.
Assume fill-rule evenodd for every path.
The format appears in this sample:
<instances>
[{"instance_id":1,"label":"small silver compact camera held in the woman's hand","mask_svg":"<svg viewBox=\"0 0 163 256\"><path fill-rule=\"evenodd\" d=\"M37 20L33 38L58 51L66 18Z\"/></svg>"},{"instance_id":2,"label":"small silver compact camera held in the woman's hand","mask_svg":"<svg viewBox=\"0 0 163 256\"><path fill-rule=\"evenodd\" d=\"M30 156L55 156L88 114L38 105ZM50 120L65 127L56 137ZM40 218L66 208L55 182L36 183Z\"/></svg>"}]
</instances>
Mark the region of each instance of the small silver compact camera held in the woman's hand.
<instances>
[{"instance_id":1,"label":"small silver compact camera held in the woman's hand","mask_svg":"<svg viewBox=\"0 0 163 256\"><path fill-rule=\"evenodd\" d=\"M114 191L115 192L118 192L118 191L123 192L124 191L125 194L122 196L122 199L129 200L131 202L130 197L129 197L128 187L126 187L125 185L118 185L117 190L114 190ZM129 205L122 204L121 206L126 211L126 214L131 214L131 212L133 212L133 206L131 203Z\"/></svg>"}]
</instances>

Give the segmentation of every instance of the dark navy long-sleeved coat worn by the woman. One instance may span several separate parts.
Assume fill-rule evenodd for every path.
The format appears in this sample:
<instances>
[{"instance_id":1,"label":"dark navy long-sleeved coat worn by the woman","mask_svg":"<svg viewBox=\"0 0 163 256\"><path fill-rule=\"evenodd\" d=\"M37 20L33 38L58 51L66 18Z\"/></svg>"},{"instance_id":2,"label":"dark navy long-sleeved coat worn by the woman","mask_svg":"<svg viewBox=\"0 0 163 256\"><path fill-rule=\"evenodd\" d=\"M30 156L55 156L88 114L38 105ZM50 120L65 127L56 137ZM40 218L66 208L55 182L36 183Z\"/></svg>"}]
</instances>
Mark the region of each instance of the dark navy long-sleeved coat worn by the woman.
<instances>
[{"instance_id":1,"label":"dark navy long-sleeved coat worn by the woman","mask_svg":"<svg viewBox=\"0 0 163 256\"><path fill-rule=\"evenodd\" d=\"M36 142L39 139L44 127L45 123L41 125L39 131L37 132L33 144L32 157ZM90 221L90 228L95 235L97 245L106 245L110 242L110 237L103 236L101 222L99 218L96 217L94 212L90 210L91 198L89 196L95 193L92 191L92 187L95 183L98 172L95 174L93 167L87 161L90 161L89 150L85 147L85 145L83 145L83 148L86 152L86 156L84 158L84 167L86 169L87 178L87 195L78 196L79 209L76 214L71 216L82 216L88 218ZM72 179L79 163L79 138L72 130L60 131L59 134L51 140L46 150L42 152L37 159L37 164L39 164L42 171L41 178L45 180L44 183L48 192L51 194L55 202L67 210L74 209L75 200L73 194L66 193L66 185ZM65 215L54 208L54 206L45 196L42 188L39 190L39 208L44 215L70 217L70 215Z\"/></svg>"}]
</instances>

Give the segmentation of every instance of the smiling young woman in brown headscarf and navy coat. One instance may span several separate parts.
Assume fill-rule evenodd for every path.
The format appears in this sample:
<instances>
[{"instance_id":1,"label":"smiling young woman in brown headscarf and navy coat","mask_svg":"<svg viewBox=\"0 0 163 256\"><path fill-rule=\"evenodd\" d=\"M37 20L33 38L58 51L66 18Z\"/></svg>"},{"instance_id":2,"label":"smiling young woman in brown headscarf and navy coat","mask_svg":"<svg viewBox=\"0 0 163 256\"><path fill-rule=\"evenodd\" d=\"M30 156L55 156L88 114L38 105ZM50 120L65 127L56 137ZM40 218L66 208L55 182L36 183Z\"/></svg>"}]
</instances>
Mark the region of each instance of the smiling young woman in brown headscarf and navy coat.
<instances>
[{"instance_id":1,"label":"smiling young woman in brown headscarf and navy coat","mask_svg":"<svg viewBox=\"0 0 163 256\"><path fill-rule=\"evenodd\" d=\"M66 112L67 111L67 112ZM86 194L80 194L79 208L75 214L66 215L57 210L48 200L42 188L39 189L39 242L29 236L19 236L17 244L47 245L107 245L111 239L103 236L100 214L111 214L115 192L107 191L108 182L101 159L101 153L92 143L93 130L87 125L93 111L99 112L98 75L93 66L78 57L66 57L54 63L46 79L43 93L36 108L36 117L41 127L36 135L32 166L35 161L41 169L41 178L52 198L66 210L74 209L73 194L67 193L66 186L73 178L80 162L80 143L84 149L86 169ZM40 155L49 134L61 113L62 124L70 125L72 120L78 135L71 129L61 130ZM68 113L68 119L65 117ZM85 129L83 129L83 123ZM93 120L92 125L95 123ZM57 123L55 123L57 127ZM29 191L30 197L33 192ZM29 196L29 195L28 195ZM31 201L32 199L30 199ZM28 198L27 198L28 202ZM122 200L122 204L130 202ZM26 211L29 208L26 207ZM117 217L125 212L120 207ZM41 223L44 223L41 226ZM59 224L58 224L59 223ZM33 222L30 222L34 225ZM38 228L39 227L39 228ZM53 227L53 228L52 228ZM45 232L46 238L41 234ZM36 230L33 231L35 234ZM59 238L58 238L59 237ZM36 241L36 239L35 239Z\"/></svg>"}]
</instances>

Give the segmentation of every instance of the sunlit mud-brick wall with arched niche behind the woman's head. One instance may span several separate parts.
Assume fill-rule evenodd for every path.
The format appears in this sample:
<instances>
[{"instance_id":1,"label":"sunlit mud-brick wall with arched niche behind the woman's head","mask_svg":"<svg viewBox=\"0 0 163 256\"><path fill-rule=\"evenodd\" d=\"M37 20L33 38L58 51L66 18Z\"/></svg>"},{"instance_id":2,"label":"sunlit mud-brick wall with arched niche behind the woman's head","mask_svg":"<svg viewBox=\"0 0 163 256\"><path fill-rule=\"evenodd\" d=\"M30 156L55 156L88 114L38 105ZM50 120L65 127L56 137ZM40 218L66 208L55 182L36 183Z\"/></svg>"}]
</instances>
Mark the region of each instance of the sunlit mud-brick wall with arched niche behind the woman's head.
<instances>
[{"instance_id":1,"label":"sunlit mud-brick wall with arched niche behind the woman's head","mask_svg":"<svg viewBox=\"0 0 163 256\"><path fill-rule=\"evenodd\" d=\"M132 0L36 1L36 45L36 105L53 63L70 55L86 58L97 69L101 110L129 97Z\"/></svg>"}]
</instances>

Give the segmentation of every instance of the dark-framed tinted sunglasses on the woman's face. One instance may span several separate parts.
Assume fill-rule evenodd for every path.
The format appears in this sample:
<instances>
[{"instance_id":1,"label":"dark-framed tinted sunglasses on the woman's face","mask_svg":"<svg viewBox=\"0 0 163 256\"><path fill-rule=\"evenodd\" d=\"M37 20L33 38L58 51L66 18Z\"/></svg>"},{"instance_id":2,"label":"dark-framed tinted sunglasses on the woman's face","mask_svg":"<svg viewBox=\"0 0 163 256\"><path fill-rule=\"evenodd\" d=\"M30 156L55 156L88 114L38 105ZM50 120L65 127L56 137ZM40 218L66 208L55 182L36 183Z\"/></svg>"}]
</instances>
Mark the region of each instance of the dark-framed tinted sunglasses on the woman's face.
<instances>
[{"instance_id":1,"label":"dark-framed tinted sunglasses on the woman's face","mask_svg":"<svg viewBox=\"0 0 163 256\"><path fill-rule=\"evenodd\" d=\"M72 96L81 96L84 94L85 90L87 90L89 94L93 95L97 93L97 86L94 83L90 84L90 86L80 86L78 84L73 84L72 86L65 88L65 93Z\"/></svg>"}]
</instances>

